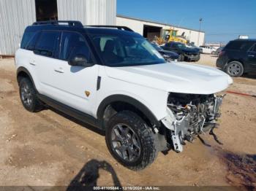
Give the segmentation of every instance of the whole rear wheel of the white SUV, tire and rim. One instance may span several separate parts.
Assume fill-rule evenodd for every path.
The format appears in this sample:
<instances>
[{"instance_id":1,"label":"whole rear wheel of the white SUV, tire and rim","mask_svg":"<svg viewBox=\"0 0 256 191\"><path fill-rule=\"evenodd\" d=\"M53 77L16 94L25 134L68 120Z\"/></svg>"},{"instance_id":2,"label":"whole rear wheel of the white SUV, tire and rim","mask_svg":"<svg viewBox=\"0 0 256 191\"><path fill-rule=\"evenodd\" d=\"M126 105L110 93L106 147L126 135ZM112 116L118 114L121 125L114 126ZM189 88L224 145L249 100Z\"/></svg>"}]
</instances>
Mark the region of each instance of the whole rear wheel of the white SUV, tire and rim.
<instances>
[{"instance_id":1,"label":"whole rear wheel of the white SUV, tire and rim","mask_svg":"<svg viewBox=\"0 0 256 191\"><path fill-rule=\"evenodd\" d=\"M42 110L43 105L37 98L37 93L32 82L28 78L22 78L20 79L19 87L20 101L25 109L29 112L39 112Z\"/></svg>"}]
</instances>

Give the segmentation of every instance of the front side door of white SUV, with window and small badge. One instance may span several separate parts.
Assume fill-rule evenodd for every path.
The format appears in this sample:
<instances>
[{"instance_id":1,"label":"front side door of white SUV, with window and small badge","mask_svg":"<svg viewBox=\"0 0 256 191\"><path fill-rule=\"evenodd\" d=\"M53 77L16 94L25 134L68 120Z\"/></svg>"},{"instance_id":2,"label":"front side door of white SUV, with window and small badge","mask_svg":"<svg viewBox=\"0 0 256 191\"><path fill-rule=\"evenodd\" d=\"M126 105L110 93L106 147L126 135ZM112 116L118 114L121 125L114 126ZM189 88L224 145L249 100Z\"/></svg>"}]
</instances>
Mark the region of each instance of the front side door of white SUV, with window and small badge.
<instances>
[{"instance_id":1,"label":"front side door of white SUV, with window and small badge","mask_svg":"<svg viewBox=\"0 0 256 191\"><path fill-rule=\"evenodd\" d=\"M97 77L99 65L91 67L70 66L71 55L83 55L93 63L86 39L75 31L61 33L58 60L52 63L52 80L49 82L54 99L62 104L92 114L97 98ZM48 79L45 79L48 80Z\"/></svg>"}]
</instances>

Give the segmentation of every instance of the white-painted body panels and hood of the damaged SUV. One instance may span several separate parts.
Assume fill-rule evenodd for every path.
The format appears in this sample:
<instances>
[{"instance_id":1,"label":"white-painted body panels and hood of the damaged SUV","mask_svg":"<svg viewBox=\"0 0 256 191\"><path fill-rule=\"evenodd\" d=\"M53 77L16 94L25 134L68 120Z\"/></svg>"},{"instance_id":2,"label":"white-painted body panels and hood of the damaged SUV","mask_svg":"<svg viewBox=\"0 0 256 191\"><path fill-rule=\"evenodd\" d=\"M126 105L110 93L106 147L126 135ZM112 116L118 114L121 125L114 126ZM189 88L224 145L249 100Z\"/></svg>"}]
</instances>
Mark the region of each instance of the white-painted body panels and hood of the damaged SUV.
<instances>
[{"instance_id":1,"label":"white-painted body panels and hood of the damaged SUV","mask_svg":"<svg viewBox=\"0 0 256 191\"><path fill-rule=\"evenodd\" d=\"M94 117L99 104L108 96L128 95L147 106L157 120L162 120L167 116L168 93L212 94L233 83L218 69L190 63L78 68L22 49L16 52L15 63L16 68L23 66L30 72L39 93ZM97 76L102 77L98 91ZM89 97L84 93L86 90L91 92Z\"/></svg>"}]
</instances>

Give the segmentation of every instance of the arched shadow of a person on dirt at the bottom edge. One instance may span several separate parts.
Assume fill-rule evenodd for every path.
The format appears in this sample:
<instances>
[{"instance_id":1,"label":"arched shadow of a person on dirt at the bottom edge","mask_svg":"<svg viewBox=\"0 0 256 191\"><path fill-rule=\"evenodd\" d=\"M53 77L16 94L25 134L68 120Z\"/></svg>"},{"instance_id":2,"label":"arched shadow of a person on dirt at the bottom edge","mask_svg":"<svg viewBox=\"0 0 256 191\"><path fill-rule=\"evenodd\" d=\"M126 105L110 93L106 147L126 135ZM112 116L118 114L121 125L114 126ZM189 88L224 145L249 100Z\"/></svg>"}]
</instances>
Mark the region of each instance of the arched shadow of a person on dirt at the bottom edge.
<instances>
[{"instance_id":1,"label":"arched shadow of a person on dirt at the bottom edge","mask_svg":"<svg viewBox=\"0 0 256 191\"><path fill-rule=\"evenodd\" d=\"M86 163L86 165L83 166L75 178L72 179L69 186L67 187L67 191L87 190L89 188L93 189L93 187L96 187L97 179L99 179L99 169L108 171L113 179L113 187L119 187L121 190L121 182L119 181L116 171L113 169L113 167L105 160L98 161L93 159Z\"/></svg>"}]
</instances>

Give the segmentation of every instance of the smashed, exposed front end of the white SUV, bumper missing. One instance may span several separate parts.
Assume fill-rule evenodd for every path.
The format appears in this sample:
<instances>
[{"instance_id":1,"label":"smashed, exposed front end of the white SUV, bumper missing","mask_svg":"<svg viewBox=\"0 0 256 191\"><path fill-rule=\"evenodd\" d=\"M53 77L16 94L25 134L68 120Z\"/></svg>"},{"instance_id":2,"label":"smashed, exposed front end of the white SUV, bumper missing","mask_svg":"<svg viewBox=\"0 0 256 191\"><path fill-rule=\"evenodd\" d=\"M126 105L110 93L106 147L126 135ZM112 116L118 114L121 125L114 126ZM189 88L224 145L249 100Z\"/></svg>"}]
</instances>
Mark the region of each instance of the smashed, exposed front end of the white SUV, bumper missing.
<instances>
[{"instance_id":1,"label":"smashed, exposed front end of the white SUV, bumper missing","mask_svg":"<svg viewBox=\"0 0 256 191\"><path fill-rule=\"evenodd\" d=\"M167 128L167 143L176 152L182 152L185 141L192 142L198 135L216 128L224 96L170 93L168 115L162 120Z\"/></svg>"}]
</instances>

